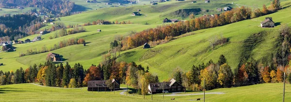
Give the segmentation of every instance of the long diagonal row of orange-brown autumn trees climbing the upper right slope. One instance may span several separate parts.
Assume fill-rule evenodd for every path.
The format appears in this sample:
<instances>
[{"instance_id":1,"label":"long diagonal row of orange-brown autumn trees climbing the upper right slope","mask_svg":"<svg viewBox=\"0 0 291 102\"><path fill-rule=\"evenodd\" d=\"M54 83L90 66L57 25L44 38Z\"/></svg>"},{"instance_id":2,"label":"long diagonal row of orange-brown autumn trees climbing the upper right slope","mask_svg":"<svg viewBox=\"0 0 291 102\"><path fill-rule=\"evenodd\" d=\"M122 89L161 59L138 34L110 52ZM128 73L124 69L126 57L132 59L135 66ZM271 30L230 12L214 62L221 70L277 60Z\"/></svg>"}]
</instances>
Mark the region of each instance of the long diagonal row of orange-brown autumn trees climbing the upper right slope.
<instances>
[{"instance_id":1,"label":"long diagonal row of orange-brown autumn trees climbing the upper right slope","mask_svg":"<svg viewBox=\"0 0 291 102\"><path fill-rule=\"evenodd\" d=\"M235 8L219 15L205 15L197 18L192 16L194 19L146 29L124 38L121 41L123 45L122 50L135 48L148 42L164 40L166 37L176 37L199 29L223 26L261 15L271 14L280 9L280 3L276 1L277 0L275 0L268 9L263 5L262 10L256 9L252 11L250 8L242 6L241 8Z\"/></svg>"}]
</instances>

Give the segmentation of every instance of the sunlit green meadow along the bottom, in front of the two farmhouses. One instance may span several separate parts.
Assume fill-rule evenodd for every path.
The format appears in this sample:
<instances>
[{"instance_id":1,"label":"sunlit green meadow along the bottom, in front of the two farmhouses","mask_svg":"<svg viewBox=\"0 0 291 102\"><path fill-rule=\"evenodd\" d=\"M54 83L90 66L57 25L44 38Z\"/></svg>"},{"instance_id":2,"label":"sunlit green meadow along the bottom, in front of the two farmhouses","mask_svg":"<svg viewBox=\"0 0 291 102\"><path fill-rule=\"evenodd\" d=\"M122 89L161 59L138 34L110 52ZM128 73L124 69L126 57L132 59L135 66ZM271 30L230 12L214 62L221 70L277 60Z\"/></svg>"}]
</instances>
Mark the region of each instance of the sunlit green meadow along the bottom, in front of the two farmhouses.
<instances>
[{"instance_id":1,"label":"sunlit green meadow along the bottom, in front of the two farmhouses","mask_svg":"<svg viewBox=\"0 0 291 102\"><path fill-rule=\"evenodd\" d=\"M87 87L78 89L41 87L32 84L16 84L0 86L1 101L62 101L62 102L148 102L151 101L151 95L146 95L143 99L141 95L129 96L120 95L121 91L113 92L89 92ZM283 84L259 84L246 87L219 88L211 92L223 92L224 94L206 94L206 102L280 102L283 97ZM183 94L197 94L203 92L186 92ZM291 100L291 85L286 84L285 101ZM186 102L201 98L201 95L186 95L186 96L167 96L164 99L162 94L154 94L153 102L169 102L171 98L175 98L174 102Z\"/></svg>"}]
</instances>

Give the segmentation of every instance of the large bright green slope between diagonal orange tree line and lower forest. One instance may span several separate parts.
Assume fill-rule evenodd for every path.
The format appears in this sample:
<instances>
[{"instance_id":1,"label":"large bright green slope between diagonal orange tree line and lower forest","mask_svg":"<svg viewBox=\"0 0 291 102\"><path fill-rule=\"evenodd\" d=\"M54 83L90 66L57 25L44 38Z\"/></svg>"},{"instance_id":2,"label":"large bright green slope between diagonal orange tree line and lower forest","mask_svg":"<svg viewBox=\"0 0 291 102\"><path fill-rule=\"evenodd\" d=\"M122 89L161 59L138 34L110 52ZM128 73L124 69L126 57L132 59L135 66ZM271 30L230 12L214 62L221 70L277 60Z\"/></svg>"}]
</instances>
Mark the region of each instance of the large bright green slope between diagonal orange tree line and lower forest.
<instances>
[{"instance_id":1,"label":"large bright green slope between diagonal orange tree line and lower forest","mask_svg":"<svg viewBox=\"0 0 291 102\"><path fill-rule=\"evenodd\" d=\"M268 58L275 52L275 39L279 35L275 28L260 28L260 21L265 17L273 17L275 22L280 24L291 25L291 17L288 13L291 8L281 10L275 14L261 16L252 20L244 20L241 22L229 24L222 27L211 29L197 30L192 33L194 35L173 40L170 43L157 45L151 49L142 49L141 47L131 49L125 52L119 60L127 62L135 61L138 64L149 66L150 71L158 74L162 79L170 77L173 69L180 68L188 71L193 65L206 63L210 59L217 62L221 54L226 56L228 64L232 69L236 68L240 58L245 56L245 49L250 49L247 54L251 57L260 60ZM243 46L244 43L255 33L266 31L266 35L260 37L261 40L253 48L251 46ZM223 46L218 46L214 50L210 48L209 38L214 35L222 34L229 39L229 42ZM251 39L250 39L251 40Z\"/></svg>"}]
</instances>

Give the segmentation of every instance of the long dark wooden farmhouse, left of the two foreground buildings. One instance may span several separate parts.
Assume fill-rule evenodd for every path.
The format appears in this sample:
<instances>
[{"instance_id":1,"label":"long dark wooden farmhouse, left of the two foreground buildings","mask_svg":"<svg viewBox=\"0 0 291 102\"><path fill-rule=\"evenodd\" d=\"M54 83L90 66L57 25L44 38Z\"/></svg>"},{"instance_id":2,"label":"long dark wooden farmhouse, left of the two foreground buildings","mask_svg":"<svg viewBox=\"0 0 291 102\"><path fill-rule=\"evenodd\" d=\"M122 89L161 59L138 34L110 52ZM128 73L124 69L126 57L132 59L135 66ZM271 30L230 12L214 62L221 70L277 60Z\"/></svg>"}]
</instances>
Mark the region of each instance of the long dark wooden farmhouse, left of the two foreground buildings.
<instances>
[{"instance_id":1,"label":"long dark wooden farmhouse, left of the two foreground buildings","mask_svg":"<svg viewBox=\"0 0 291 102\"><path fill-rule=\"evenodd\" d=\"M112 80L111 84L113 84L114 90L119 90L120 85L115 81L115 79ZM106 85L106 80L94 80L94 81L88 81L88 91L105 91L110 90L108 85Z\"/></svg>"}]
</instances>

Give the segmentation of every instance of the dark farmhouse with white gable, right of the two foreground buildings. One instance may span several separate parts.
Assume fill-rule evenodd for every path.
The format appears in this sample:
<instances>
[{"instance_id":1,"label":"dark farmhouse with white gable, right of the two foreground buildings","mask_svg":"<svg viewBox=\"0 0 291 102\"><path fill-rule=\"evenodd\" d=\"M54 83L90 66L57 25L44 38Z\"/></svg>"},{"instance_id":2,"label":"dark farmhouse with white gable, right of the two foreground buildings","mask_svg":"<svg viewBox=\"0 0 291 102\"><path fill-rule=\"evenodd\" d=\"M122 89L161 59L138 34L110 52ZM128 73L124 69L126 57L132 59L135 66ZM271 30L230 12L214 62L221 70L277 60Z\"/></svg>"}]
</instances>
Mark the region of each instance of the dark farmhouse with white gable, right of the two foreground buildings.
<instances>
[{"instance_id":1,"label":"dark farmhouse with white gable, right of the two foreground buildings","mask_svg":"<svg viewBox=\"0 0 291 102\"><path fill-rule=\"evenodd\" d=\"M162 93L163 90L168 92L182 92L184 87L175 79L171 79L169 82L150 83L148 85L149 94Z\"/></svg>"}]
</instances>

